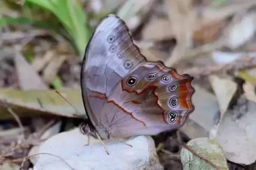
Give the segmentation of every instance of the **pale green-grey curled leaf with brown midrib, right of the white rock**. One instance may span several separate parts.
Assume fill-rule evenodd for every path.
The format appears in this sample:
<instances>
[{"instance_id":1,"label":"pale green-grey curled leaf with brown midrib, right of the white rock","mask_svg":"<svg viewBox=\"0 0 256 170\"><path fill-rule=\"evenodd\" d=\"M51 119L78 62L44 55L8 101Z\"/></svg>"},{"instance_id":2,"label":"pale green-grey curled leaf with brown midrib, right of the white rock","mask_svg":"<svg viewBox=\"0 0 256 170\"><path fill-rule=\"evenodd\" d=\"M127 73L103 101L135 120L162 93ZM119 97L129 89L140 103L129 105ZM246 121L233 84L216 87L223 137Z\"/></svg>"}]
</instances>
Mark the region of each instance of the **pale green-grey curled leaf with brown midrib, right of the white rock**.
<instances>
[{"instance_id":1,"label":"pale green-grey curled leaf with brown midrib, right of the white rock","mask_svg":"<svg viewBox=\"0 0 256 170\"><path fill-rule=\"evenodd\" d=\"M184 170L228 170L220 144L209 138L192 139L180 156Z\"/></svg>"}]
</instances>

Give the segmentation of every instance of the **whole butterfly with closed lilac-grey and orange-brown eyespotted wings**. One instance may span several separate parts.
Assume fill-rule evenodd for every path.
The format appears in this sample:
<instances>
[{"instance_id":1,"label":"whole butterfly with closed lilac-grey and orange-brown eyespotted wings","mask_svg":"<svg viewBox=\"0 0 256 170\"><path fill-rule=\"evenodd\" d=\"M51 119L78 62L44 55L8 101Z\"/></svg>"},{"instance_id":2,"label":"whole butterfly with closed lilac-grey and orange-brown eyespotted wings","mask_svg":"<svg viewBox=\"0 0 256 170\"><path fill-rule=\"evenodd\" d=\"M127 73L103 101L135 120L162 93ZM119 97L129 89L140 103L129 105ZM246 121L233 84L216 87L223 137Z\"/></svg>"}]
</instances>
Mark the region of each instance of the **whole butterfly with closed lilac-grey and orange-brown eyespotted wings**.
<instances>
[{"instance_id":1,"label":"whole butterfly with closed lilac-grey and orange-brown eyespotted wings","mask_svg":"<svg viewBox=\"0 0 256 170\"><path fill-rule=\"evenodd\" d=\"M96 27L82 62L87 131L109 139L178 128L194 111L192 80L161 61L147 61L124 21L111 14Z\"/></svg>"}]
</instances>

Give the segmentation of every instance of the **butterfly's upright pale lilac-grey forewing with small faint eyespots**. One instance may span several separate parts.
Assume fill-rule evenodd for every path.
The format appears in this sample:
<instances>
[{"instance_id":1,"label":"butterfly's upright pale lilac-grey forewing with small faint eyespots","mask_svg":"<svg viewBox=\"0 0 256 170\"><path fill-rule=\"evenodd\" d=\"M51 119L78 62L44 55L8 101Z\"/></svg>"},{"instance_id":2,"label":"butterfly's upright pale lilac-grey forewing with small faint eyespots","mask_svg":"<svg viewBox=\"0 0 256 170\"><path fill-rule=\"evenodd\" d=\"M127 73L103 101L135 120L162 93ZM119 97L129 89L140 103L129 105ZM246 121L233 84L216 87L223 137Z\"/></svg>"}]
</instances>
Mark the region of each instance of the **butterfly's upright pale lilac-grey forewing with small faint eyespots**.
<instances>
[{"instance_id":1,"label":"butterfly's upright pale lilac-grey forewing with small faint eyespots","mask_svg":"<svg viewBox=\"0 0 256 170\"><path fill-rule=\"evenodd\" d=\"M114 86L144 62L124 21L110 15L98 25L86 47L81 71L82 98L94 126L99 125L102 107Z\"/></svg>"}]
</instances>

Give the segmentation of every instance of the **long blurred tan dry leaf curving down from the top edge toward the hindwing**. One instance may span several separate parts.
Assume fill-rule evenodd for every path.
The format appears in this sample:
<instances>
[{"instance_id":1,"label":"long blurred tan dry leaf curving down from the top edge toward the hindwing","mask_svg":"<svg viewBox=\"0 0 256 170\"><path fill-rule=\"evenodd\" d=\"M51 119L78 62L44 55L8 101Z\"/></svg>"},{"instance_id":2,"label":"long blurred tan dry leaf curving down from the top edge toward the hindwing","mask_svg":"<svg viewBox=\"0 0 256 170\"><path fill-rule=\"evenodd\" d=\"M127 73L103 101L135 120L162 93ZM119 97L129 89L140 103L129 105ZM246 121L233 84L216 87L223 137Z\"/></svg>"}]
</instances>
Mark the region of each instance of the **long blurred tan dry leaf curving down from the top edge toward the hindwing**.
<instances>
[{"instance_id":1,"label":"long blurred tan dry leaf curving down from the top edge toward the hindwing","mask_svg":"<svg viewBox=\"0 0 256 170\"><path fill-rule=\"evenodd\" d=\"M192 0L165 0L166 11L171 23L170 30L175 35L177 45L166 61L167 66L173 66L180 61L186 51L192 46L192 36L196 23L196 12Z\"/></svg>"}]
</instances>

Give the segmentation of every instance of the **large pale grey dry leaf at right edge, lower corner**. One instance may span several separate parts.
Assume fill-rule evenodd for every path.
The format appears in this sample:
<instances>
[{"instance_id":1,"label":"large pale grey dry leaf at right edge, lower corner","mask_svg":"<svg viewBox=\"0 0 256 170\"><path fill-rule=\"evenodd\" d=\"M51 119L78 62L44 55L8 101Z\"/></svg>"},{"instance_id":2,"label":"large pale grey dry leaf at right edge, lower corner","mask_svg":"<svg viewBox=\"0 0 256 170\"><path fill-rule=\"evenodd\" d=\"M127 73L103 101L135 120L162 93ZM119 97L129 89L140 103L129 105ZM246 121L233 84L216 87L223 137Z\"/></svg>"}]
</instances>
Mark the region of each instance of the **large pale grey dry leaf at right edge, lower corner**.
<instances>
[{"instance_id":1,"label":"large pale grey dry leaf at right edge, lower corner","mask_svg":"<svg viewBox=\"0 0 256 170\"><path fill-rule=\"evenodd\" d=\"M228 160L248 165L256 160L256 103L248 101L244 106L223 115L215 139Z\"/></svg>"}]
</instances>

